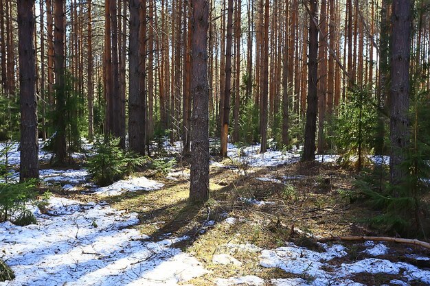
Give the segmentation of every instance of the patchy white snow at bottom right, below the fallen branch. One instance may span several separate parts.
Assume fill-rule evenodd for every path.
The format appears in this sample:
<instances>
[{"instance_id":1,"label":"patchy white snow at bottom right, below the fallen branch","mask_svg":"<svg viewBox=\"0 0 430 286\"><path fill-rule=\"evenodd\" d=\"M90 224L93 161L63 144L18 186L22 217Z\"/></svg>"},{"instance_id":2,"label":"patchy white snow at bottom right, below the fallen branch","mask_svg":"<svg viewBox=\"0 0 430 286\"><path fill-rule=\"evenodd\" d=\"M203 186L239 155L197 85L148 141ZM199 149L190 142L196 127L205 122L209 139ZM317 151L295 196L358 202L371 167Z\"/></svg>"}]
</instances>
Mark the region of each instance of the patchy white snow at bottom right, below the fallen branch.
<instances>
[{"instance_id":1,"label":"patchy white snow at bottom right, below the fallen branch","mask_svg":"<svg viewBox=\"0 0 430 286\"><path fill-rule=\"evenodd\" d=\"M381 244L381 243L380 243ZM378 244L378 246L380 245ZM386 259L367 258L354 263L342 263L337 269L326 263L335 257L346 255L346 248L340 245L324 247L324 252L315 252L300 248L290 243L290 246L276 248L275 250L262 250L260 265L263 267L278 267L285 272L312 277L311 283L304 283L298 279L294 281L278 280L275 285L361 285L348 280L354 274L400 274L408 281L421 281L430 284L430 271L421 270L409 263L393 263ZM374 248L372 248L374 249ZM292 284L288 284L288 283ZM307 281L308 282L308 281Z\"/></svg>"}]
</instances>

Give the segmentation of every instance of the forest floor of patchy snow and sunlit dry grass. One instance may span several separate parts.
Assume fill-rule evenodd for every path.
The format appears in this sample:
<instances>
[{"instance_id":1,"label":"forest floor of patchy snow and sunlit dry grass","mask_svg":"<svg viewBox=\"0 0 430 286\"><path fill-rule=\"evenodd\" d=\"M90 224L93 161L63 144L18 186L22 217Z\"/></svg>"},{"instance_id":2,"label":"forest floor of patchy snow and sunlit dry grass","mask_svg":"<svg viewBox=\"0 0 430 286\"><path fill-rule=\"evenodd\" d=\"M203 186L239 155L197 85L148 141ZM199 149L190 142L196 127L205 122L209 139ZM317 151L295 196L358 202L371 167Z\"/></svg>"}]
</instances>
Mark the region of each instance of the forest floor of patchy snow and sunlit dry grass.
<instances>
[{"instance_id":1,"label":"forest floor of patchy snow and sunlit dry grass","mask_svg":"<svg viewBox=\"0 0 430 286\"><path fill-rule=\"evenodd\" d=\"M84 154L74 169L50 169L41 152L54 195L43 213L32 208L37 225L0 224L0 258L16 274L0 285L430 285L428 250L317 242L385 235L367 225L378 213L353 201L356 174L337 156L299 163L299 152L229 145L229 158L211 158L211 198L199 207L188 204L180 144L161 149L177 158L172 169L104 188L89 180ZM19 163L16 149L11 158Z\"/></svg>"}]
</instances>

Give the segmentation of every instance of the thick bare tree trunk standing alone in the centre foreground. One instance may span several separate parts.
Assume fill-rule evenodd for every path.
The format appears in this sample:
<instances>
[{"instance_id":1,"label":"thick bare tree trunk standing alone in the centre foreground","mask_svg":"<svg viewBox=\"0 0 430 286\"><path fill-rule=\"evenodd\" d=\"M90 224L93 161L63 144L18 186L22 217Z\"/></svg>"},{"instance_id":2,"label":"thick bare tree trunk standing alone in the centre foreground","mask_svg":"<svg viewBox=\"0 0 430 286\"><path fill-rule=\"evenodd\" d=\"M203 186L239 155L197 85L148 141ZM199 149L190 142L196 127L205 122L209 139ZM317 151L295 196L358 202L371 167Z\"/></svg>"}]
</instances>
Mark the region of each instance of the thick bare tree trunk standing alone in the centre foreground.
<instances>
[{"instance_id":1,"label":"thick bare tree trunk standing alone in the centre foreground","mask_svg":"<svg viewBox=\"0 0 430 286\"><path fill-rule=\"evenodd\" d=\"M192 1L192 144L190 202L209 199L209 86L207 83L207 0Z\"/></svg>"}]
</instances>

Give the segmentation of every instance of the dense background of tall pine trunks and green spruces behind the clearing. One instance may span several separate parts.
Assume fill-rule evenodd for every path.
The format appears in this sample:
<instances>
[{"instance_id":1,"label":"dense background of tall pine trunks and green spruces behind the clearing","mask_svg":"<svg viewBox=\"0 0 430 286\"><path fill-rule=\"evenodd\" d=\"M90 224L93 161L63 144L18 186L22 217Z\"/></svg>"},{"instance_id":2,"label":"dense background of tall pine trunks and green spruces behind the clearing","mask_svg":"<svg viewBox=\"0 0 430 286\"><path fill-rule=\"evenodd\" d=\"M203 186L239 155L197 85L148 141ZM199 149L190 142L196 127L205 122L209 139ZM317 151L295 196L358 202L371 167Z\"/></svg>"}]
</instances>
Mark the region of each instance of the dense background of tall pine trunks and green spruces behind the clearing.
<instances>
[{"instance_id":1,"label":"dense background of tall pine trunks and green spruces behind the clearing","mask_svg":"<svg viewBox=\"0 0 430 286\"><path fill-rule=\"evenodd\" d=\"M181 140L190 154L197 36L190 1L1 0L0 140L19 140L23 122L23 2L36 16L38 138L52 141L56 163L80 149L82 136L102 134L138 154L149 154L152 140ZM392 183L389 195L376 199L408 198L396 204L413 208L420 224L429 169L429 1L207 5L209 133L220 139L210 152L227 156L228 140L260 143L262 153L304 144L304 160L315 151L341 154L359 171L368 155L391 155L391 173L381 175ZM379 182L376 189L386 189Z\"/></svg>"}]
</instances>

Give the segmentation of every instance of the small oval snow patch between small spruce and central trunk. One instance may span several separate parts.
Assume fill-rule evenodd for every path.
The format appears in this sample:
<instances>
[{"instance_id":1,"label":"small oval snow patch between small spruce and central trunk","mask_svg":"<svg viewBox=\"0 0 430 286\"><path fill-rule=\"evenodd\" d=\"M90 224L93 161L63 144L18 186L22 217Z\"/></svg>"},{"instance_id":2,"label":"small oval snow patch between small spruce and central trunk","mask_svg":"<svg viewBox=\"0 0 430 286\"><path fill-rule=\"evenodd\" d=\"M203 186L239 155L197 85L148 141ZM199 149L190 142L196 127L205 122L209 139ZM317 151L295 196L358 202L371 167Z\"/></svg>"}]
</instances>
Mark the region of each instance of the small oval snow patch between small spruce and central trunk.
<instances>
[{"instance_id":1,"label":"small oval snow patch between small spruce and central trunk","mask_svg":"<svg viewBox=\"0 0 430 286\"><path fill-rule=\"evenodd\" d=\"M162 187L164 187L164 184L161 182L149 180L146 177L138 177L119 180L107 187L95 188L91 191L102 195L120 195L126 191L153 191Z\"/></svg>"}]
</instances>

